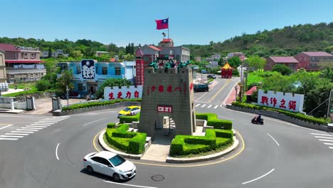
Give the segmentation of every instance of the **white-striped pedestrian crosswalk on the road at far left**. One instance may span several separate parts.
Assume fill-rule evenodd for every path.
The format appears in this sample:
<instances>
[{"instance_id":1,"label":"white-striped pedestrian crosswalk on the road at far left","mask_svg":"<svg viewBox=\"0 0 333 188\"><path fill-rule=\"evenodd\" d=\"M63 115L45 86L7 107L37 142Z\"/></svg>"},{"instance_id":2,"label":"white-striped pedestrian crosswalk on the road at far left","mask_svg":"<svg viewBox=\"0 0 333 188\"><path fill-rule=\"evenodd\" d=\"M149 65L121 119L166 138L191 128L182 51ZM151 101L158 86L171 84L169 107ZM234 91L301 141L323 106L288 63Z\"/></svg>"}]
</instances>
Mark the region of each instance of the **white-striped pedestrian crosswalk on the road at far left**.
<instances>
[{"instance_id":1,"label":"white-striped pedestrian crosswalk on the road at far left","mask_svg":"<svg viewBox=\"0 0 333 188\"><path fill-rule=\"evenodd\" d=\"M67 119L70 116L57 116L57 117L46 117L44 120L39 120L38 122L33 122L24 127L19 127L16 130L7 132L4 135L0 135L0 140L18 140L21 137L28 136L33 132L38 132L43 130L48 126L54 125L57 122Z\"/></svg>"}]
</instances>

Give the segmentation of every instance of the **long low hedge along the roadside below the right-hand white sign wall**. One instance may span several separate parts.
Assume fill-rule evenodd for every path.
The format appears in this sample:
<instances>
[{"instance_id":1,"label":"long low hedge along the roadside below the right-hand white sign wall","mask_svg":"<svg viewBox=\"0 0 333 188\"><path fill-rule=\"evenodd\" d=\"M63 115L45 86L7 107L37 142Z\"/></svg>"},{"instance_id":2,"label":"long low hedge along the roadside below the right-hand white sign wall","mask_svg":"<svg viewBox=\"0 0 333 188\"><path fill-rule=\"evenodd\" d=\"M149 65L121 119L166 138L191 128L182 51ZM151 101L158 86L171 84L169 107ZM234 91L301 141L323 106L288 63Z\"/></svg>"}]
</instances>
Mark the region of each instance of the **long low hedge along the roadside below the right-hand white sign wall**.
<instances>
[{"instance_id":1,"label":"long low hedge along the roadside below the right-hand white sign wall","mask_svg":"<svg viewBox=\"0 0 333 188\"><path fill-rule=\"evenodd\" d=\"M270 108L270 107L266 107L266 106L262 106L262 105L253 105L253 104L248 104L248 103L240 103L240 102L233 102L232 105L234 106L238 106L241 108L250 108L250 109L255 109L255 110L270 110L270 111L275 111L284 115L287 115L289 117L298 119L298 120L303 120L303 121L307 121L307 122L313 122L313 123L317 123L317 124L322 124L322 125L327 125L327 121L324 120L324 118L317 118L317 117L312 117L309 115L304 115L301 113L294 113L294 112L290 112L287 110L281 110L281 109L277 109L277 108Z\"/></svg>"}]
</instances>

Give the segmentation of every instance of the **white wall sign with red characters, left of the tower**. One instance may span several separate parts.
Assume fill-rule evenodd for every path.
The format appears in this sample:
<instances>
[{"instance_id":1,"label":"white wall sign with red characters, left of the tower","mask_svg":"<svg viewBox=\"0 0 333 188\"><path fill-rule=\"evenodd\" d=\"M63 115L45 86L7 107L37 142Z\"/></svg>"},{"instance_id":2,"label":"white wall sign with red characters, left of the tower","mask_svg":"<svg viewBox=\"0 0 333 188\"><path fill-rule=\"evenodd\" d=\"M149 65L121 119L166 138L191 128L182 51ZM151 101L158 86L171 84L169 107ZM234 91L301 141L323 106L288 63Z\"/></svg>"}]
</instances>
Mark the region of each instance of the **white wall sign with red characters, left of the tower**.
<instances>
[{"instance_id":1,"label":"white wall sign with red characters, left of the tower","mask_svg":"<svg viewBox=\"0 0 333 188\"><path fill-rule=\"evenodd\" d=\"M129 98L142 98L142 85L130 85L129 88L126 86L119 87L105 87L104 88L104 99L115 100L115 99L129 99Z\"/></svg>"}]
</instances>

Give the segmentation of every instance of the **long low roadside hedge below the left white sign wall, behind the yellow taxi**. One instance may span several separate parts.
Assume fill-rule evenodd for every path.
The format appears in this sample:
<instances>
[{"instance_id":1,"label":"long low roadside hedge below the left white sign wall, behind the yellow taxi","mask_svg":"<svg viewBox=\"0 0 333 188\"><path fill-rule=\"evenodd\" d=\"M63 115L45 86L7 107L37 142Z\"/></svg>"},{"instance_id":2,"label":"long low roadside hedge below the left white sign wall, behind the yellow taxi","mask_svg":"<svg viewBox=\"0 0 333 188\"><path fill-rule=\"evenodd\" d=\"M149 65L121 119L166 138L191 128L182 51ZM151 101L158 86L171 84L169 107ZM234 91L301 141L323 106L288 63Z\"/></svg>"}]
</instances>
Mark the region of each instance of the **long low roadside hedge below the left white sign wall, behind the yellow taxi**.
<instances>
[{"instance_id":1,"label":"long low roadside hedge below the left white sign wall, behind the yellow taxi","mask_svg":"<svg viewBox=\"0 0 333 188\"><path fill-rule=\"evenodd\" d=\"M108 100L108 101L96 101L96 102L89 102L89 103L79 103L79 104L73 104L69 106L64 106L63 111L68 111L68 110L77 110L80 108L91 108L95 106L102 106L102 105L112 105L115 103L120 103L120 102L126 102L126 101L132 101L132 102L141 102L141 98L135 98L135 99L124 99L124 100Z\"/></svg>"}]
</instances>

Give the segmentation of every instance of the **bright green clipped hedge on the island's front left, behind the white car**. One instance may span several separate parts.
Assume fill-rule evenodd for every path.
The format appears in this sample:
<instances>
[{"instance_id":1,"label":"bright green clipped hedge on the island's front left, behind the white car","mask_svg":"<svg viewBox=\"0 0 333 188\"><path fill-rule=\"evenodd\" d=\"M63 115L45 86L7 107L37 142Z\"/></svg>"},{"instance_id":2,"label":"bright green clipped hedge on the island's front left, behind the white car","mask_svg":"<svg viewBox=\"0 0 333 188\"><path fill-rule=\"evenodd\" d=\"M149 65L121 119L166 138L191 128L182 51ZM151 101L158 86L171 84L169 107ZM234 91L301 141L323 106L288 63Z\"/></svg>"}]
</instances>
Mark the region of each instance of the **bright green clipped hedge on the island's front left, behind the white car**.
<instances>
[{"instance_id":1,"label":"bright green clipped hedge on the island's front left, behind the white car","mask_svg":"<svg viewBox=\"0 0 333 188\"><path fill-rule=\"evenodd\" d=\"M128 128L129 125L127 124L120 124L117 129L107 128L105 134L107 142L129 154L143 153L147 134L142 132L127 132Z\"/></svg>"}]
</instances>

